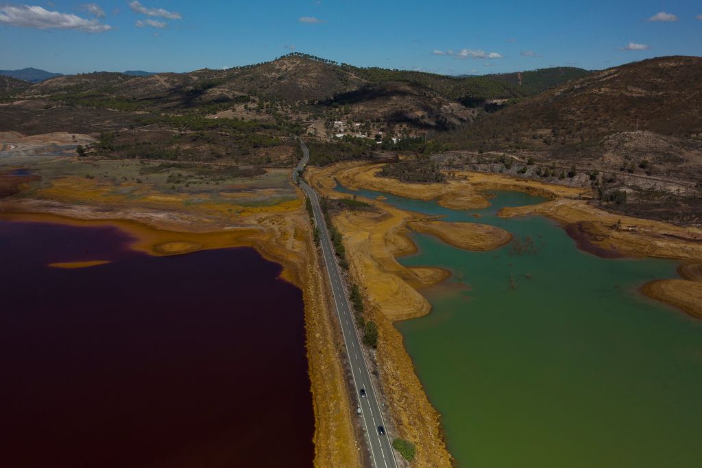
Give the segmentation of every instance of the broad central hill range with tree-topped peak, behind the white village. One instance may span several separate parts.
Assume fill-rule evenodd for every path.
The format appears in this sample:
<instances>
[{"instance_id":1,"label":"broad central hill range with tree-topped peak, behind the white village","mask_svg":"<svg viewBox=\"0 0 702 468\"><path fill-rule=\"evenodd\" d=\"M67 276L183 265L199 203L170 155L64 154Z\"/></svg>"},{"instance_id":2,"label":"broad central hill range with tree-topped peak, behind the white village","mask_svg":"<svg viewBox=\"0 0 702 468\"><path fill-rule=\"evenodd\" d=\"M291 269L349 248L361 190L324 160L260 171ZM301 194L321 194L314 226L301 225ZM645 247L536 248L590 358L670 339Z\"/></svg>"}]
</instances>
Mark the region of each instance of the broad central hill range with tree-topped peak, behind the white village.
<instances>
[{"instance_id":1,"label":"broad central hill range with tree-topped peak, behind the white village","mask_svg":"<svg viewBox=\"0 0 702 468\"><path fill-rule=\"evenodd\" d=\"M273 119L385 122L393 131L446 130L472 121L482 110L522 100L569 79L560 71L534 72L534 85L503 77L458 78L423 72L354 67L291 53L272 62L176 74L95 72L59 76L17 94L67 105L122 111L190 112ZM253 110L252 107L256 109ZM366 135L380 131L370 128ZM323 131L322 127L317 131ZM324 130L328 132L329 130Z\"/></svg>"}]
</instances>

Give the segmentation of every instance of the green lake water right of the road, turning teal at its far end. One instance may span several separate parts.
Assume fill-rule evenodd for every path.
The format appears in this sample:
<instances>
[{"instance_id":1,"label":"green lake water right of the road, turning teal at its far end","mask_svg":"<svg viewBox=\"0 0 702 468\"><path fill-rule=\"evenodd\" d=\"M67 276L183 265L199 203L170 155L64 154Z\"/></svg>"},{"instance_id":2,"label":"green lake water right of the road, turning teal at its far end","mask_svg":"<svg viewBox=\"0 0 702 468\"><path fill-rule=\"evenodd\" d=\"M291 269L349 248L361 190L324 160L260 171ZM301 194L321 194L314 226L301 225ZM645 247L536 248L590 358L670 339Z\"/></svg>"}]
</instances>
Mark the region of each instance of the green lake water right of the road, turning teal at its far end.
<instances>
[{"instance_id":1,"label":"green lake water right of the road, turning teal at its far end","mask_svg":"<svg viewBox=\"0 0 702 468\"><path fill-rule=\"evenodd\" d=\"M702 467L702 321L638 293L676 263L583 253L548 219L495 216L541 199L495 194L475 211L383 194L533 240L475 253L415 235L401 260L453 273L423 291L431 314L397 327L459 466Z\"/></svg>"}]
</instances>

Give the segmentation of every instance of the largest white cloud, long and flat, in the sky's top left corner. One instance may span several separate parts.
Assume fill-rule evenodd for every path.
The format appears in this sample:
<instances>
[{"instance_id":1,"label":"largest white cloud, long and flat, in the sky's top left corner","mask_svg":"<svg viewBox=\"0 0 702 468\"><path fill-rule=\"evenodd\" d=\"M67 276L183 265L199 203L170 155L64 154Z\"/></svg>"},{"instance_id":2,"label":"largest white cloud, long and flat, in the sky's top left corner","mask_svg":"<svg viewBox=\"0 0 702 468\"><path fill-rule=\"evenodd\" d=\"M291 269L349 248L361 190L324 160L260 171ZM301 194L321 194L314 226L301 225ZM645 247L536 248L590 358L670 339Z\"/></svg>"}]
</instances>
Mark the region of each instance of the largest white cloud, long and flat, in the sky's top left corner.
<instances>
[{"instance_id":1,"label":"largest white cloud, long and flat, in the sky's top left corner","mask_svg":"<svg viewBox=\"0 0 702 468\"><path fill-rule=\"evenodd\" d=\"M72 13L48 11L41 6L0 6L0 23L35 29L77 29L83 32L110 31L112 26L88 20Z\"/></svg>"}]
</instances>

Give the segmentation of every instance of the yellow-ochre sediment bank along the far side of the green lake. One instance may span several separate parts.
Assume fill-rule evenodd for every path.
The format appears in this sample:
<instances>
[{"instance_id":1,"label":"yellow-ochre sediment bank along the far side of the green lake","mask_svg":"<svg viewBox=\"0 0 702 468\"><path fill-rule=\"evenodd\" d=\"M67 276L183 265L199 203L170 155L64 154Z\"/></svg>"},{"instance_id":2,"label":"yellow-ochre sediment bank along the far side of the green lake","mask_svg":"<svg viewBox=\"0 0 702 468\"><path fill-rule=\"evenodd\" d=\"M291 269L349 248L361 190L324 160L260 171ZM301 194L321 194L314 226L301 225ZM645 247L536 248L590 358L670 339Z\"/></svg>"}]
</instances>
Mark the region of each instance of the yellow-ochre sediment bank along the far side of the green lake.
<instances>
[{"instance_id":1,"label":"yellow-ochre sediment bank along the far side of the green lake","mask_svg":"<svg viewBox=\"0 0 702 468\"><path fill-rule=\"evenodd\" d=\"M333 178L351 188L362 187L391 192L413 199L437 199L440 204L449 208L465 208L464 201L452 205L453 196L460 199L468 196L472 199L474 196L481 196L482 190L519 190L546 196L551 200L537 205L503 208L499 215L508 218L536 214L557 220L583 250L605 257L657 257L683 261L702 259L702 229L609 213L585 201L592 197L588 189L469 171L458 171L455 178L446 184L403 184L399 180L377 177L381 166L358 163L339 165L335 168ZM329 187L329 182L326 184ZM446 237L443 239L449 241ZM681 306L679 296L684 295L684 290L688 290L689 295L694 296L696 285L693 281L700 281L701 270L700 266L682 267L680 274L692 281L675 283L675 287L658 287L655 292L656 299L689 312L691 307ZM651 287L642 290L647 295L654 295L654 289ZM670 295L668 299L665 298L667 295Z\"/></svg>"}]
</instances>

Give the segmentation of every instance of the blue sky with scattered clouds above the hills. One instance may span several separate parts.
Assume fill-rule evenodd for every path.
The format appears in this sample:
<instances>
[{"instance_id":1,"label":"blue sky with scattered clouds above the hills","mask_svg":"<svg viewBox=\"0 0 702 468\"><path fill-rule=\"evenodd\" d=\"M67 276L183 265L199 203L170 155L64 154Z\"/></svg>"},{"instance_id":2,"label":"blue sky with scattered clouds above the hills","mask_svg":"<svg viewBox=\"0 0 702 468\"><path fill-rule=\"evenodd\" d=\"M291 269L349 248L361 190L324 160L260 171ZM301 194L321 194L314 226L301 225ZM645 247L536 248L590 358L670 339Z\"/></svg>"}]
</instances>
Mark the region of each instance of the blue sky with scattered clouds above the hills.
<instances>
[{"instance_id":1,"label":"blue sky with scattered clouds above the hills","mask_svg":"<svg viewBox=\"0 0 702 468\"><path fill-rule=\"evenodd\" d=\"M702 1L0 4L0 69L185 72L264 62L291 50L442 74L602 69L661 55L701 55Z\"/></svg>"}]
</instances>

